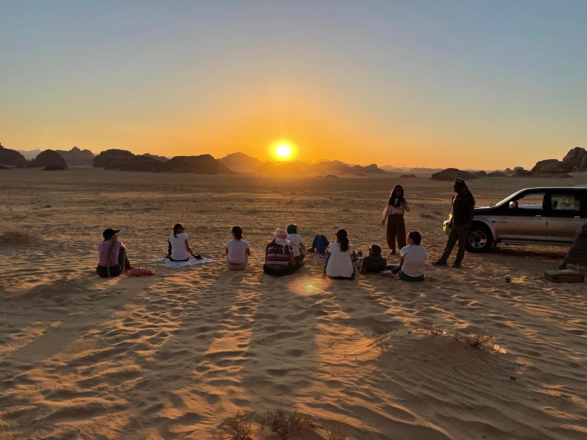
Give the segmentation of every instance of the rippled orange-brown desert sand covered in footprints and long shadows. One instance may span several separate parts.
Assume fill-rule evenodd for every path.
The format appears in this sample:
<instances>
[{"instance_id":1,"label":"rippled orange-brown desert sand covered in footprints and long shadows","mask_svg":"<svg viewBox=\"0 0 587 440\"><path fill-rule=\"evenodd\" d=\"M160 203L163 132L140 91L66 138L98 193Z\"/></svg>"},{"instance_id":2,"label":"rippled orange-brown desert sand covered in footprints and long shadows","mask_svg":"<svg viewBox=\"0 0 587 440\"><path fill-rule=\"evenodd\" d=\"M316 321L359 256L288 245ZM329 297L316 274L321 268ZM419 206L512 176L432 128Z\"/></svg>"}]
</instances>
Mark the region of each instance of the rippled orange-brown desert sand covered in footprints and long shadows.
<instances>
[{"instance_id":1,"label":"rippled orange-brown desert sand covered in footprints and long shadows","mask_svg":"<svg viewBox=\"0 0 587 440\"><path fill-rule=\"evenodd\" d=\"M586 180L468 184L487 205ZM587 289L543 277L564 248L467 253L462 269L428 264L423 283L325 280L315 258L293 276L264 275L264 243L291 222L308 244L345 227L356 250L384 246L380 213L398 182L407 229L433 260L450 182L0 171L0 438L207 439L238 413L272 409L339 423L353 439L587 438ZM151 262L178 221L216 263ZM251 243L244 272L223 263L236 224ZM110 226L156 275L95 275ZM465 340L482 332L493 341L481 350Z\"/></svg>"}]
</instances>

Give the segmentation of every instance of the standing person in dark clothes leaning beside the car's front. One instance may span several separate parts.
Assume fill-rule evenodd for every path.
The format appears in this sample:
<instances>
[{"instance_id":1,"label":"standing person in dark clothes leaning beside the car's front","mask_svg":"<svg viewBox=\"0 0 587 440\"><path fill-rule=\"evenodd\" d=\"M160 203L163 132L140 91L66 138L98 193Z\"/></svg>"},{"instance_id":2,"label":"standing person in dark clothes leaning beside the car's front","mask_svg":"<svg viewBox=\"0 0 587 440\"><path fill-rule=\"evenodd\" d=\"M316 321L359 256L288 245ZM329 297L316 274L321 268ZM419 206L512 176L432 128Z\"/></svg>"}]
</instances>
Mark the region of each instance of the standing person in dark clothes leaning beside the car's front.
<instances>
[{"instance_id":1,"label":"standing person in dark clothes leaning beside the car's front","mask_svg":"<svg viewBox=\"0 0 587 440\"><path fill-rule=\"evenodd\" d=\"M463 257L465 256L465 241L471 229L471 222L473 222L475 199L473 194L467 188L465 181L456 179L453 184L454 192L452 201L452 219L450 224L450 232L448 233L448 240L446 248L444 248L443 255L434 263L434 266L446 266L446 262L450 253L453 252L454 245L458 241L457 256L454 259L453 268L460 268Z\"/></svg>"}]
</instances>

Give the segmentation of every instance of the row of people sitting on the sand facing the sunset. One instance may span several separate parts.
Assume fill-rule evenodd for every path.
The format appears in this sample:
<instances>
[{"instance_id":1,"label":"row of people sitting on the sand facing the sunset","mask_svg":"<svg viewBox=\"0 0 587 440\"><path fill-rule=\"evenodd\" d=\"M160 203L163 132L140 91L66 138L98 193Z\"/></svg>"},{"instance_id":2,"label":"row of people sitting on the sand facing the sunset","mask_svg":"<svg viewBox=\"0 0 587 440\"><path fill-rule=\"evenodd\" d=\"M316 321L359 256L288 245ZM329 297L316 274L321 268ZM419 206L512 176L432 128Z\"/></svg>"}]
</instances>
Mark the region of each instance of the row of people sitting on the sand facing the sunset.
<instances>
[{"instance_id":1,"label":"row of people sitting on the sand facing the sunset","mask_svg":"<svg viewBox=\"0 0 587 440\"><path fill-rule=\"evenodd\" d=\"M123 270L132 269L126 255L126 247L119 241L117 229L106 229L103 232L104 241L98 246L99 263L96 273L103 277L119 276ZM242 228L232 228L232 240L225 246L226 266L230 270L244 270L248 266L251 248L249 243L242 239ZM381 256L381 246L373 244L369 248L369 255L358 255L349 242L345 229L336 231L335 241L330 243L324 235L316 235L312 247L306 249L302 237L298 234L298 226L289 225L286 229L276 229L274 238L265 245L265 264L263 272L272 276L291 275L303 266L306 252L318 252L326 256L324 275L333 279L355 279L355 265L360 273L386 272L397 274L400 280L423 281L424 260L427 258L426 249L421 246L420 232L411 231L407 236L407 246L400 251L400 263L397 266L387 265L387 260ZM201 258L194 254L181 224L173 226L173 233L168 237L167 257L171 261L187 261ZM359 258L357 258L359 257Z\"/></svg>"}]
</instances>

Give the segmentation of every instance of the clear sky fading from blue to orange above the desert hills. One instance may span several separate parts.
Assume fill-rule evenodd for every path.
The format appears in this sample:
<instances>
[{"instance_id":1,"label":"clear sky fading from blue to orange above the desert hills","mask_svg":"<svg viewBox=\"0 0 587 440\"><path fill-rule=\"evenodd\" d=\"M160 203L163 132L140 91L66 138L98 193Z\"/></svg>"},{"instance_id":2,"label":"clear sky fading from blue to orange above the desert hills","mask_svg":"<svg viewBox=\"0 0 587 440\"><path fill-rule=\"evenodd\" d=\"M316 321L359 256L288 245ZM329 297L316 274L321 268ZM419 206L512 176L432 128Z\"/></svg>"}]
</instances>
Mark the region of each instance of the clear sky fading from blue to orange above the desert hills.
<instances>
[{"instance_id":1,"label":"clear sky fading from blue to orange above the desert hills","mask_svg":"<svg viewBox=\"0 0 587 440\"><path fill-rule=\"evenodd\" d=\"M587 147L587 2L0 0L0 142L531 167Z\"/></svg>"}]
</instances>

